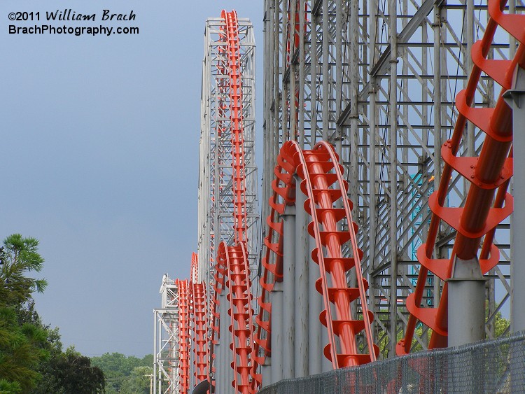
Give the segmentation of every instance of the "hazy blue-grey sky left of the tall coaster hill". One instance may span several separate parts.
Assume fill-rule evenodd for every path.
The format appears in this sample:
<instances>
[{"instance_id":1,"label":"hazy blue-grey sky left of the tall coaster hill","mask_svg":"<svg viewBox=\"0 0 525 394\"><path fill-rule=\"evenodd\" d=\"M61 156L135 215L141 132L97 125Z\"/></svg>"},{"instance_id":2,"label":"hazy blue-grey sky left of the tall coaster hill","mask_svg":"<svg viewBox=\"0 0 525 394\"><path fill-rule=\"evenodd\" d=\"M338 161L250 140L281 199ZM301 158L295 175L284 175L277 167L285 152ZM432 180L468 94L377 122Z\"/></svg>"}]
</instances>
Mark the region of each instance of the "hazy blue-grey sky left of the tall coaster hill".
<instances>
[{"instance_id":1,"label":"hazy blue-grey sky left of the tall coaster hill","mask_svg":"<svg viewBox=\"0 0 525 394\"><path fill-rule=\"evenodd\" d=\"M64 8L97 20L53 25L140 32L8 34ZM189 274L204 23L223 8L254 24L260 120L262 1L0 2L0 237L40 239L49 286L37 310L87 356L153 353L162 274ZM104 9L137 20L100 22ZM41 21L10 22L17 11L40 11Z\"/></svg>"}]
</instances>

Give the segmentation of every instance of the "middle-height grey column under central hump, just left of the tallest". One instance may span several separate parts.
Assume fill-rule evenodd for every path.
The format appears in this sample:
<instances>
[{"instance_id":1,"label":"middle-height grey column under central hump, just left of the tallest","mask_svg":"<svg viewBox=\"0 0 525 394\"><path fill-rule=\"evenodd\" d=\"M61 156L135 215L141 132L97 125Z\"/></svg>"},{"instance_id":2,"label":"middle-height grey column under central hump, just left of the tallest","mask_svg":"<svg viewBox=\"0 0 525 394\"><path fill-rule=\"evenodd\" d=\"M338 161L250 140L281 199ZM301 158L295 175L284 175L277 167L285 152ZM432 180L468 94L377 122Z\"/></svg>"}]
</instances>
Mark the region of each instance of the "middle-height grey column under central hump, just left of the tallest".
<instances>
[{"instance_id":1,"label":"middle-height grey column under central hump, just left of the tallest","mask_svg":"<svg viewBox=\"0 0 525 394\"><path fill-rule=\"evenodd\" d=\"M283 379L295 377L295 206L283 215ZM272 346L273 347L273 346Z\"/></svg>"}]
</instances>

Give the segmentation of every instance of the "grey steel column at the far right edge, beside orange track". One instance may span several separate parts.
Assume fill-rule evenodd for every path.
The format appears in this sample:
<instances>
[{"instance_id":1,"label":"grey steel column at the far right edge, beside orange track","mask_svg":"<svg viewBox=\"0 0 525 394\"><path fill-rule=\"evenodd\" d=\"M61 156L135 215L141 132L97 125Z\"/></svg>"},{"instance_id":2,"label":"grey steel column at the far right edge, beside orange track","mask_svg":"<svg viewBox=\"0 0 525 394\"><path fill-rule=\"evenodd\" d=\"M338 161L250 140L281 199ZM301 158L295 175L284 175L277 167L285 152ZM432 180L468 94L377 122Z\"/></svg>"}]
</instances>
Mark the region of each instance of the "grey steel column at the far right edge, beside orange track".
<instances>
[{"instance_id":1,"label":"grey steel column at the far right edge, beside orange track","mask_svg":"<svg viewBox=\"0 0 525 394\"><path fill-rule=\"evenodd\" d=\"M505 92L505 102L512 108L512 125L514 139L514 196L523 197L525 195L525 171L522 170L525 163L525 71L517 66L514 71L512 89ZM510 330L517 332L525 330L525 286L521 283L525 278L525 245L523 234L525 234L525 210L522 204L514 205L512 218L512 255L511 274L510 274Z\"/></svg>"}]
</instances>

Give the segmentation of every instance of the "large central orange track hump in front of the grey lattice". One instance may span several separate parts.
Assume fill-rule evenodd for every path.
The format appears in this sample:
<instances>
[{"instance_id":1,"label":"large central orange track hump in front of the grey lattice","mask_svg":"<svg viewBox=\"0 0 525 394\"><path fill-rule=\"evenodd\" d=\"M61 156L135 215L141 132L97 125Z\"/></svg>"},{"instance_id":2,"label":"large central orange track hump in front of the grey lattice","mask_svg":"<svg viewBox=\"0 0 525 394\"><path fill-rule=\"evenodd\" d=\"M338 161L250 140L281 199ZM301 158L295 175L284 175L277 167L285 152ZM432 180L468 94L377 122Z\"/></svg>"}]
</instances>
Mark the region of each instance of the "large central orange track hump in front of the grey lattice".
<instances>
[{"instance_id":1,"label":"large central orange track hump in front of the grey lattice","mask_svg":"<svg viewBox=\"0 0 525 394\"><path fill-rule=\"evenodd\" d=\"M348 183L344 181L342 171L339 158L325 141L318 143L313 150L301 150L295 141L288 141L281 148L274 169L276 178L272 182L274 194L269 199L271 213L267 218L267 249L262 259L262 293L258 300L260 310L254 354L259 355L262 349L263 356L254 358L253 377L256 377L258 365L262 365L265 356L271 356L272 352L269 293L276 281L283 280L283 222L280 215L286 206L295 204L295 174L302 179L300 190L307 196L304 209L311 216L308 232L316 242L311 258L319 265L320 278L316 281L316 289L324 301L320 320L328 329L330 341L324 354L334 369L376 360L379 348L372 341L370 322L373 314L368 310L366 299L368 284L360 267L363 252L357 246L357 225L352 220L352 203L346 197ZM352 253L350 258L344 257L342 250L346 243L349 243ZM356 288L347 286L347 275L354 276ZM362 320L353 316L350 309L351 302L356 300L360 302ZM358 351L357 335L363 331L366 349L373 349L369 353ZM339 338L340 346L336 346L335 337ZM256 381L253 379L253 384Z\"/></svg>"}]
</instances>

